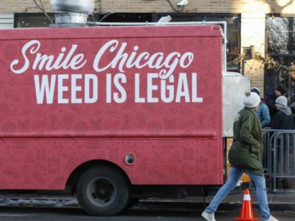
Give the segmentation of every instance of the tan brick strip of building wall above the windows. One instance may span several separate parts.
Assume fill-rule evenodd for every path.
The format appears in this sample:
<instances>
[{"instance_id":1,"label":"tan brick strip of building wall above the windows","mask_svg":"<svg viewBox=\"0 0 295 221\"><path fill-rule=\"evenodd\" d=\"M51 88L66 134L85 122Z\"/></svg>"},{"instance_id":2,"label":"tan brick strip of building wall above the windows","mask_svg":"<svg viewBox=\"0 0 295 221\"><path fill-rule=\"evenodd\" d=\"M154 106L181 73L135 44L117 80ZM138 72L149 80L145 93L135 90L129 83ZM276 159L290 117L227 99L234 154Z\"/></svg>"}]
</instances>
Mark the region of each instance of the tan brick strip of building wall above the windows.
<instances>
[{"instance_id":1,"label":"tan brick strip of building wall above the windows","mask_svg":"<svg viewBox=\"0 0 295 221\"><path fill-rule=\"evenodd\" d=\"M39 1L39 0L36 0ZM176 5L180 0L171 0ZM50 11L50 0L42 0ZM183 12L212 13L294 13L293 0L189 0ZM101 0L96 10L102 12L174 12L167 0ZM1 0L0 13L38 12L33 0Z\"/></svg>"}]
</instances>

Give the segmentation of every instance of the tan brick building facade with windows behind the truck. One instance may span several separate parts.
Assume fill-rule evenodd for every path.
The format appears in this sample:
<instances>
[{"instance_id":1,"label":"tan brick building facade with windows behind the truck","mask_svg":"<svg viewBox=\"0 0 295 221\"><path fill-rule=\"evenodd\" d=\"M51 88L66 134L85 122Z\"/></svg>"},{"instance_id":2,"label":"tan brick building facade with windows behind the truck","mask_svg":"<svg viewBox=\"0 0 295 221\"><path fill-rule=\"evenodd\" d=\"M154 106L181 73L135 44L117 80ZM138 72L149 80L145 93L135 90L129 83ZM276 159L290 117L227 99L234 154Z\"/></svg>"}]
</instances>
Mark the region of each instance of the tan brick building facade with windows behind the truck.
<instances>
[{"instance_id":1,"label":"tan brick building facade with windows behind the truck","mask_svg":"<svg viewBox=\"0 0 295 221\"><path fill-rule=\"evenodd\" d=\"M290 71L295 58L294 0L188 0L183 8L177 7L179 1L95 0L89 19L156 22L171 15L172 21L227 21L228 69L249 75L252 86L260 88L262 95L283 85L288 88L290 101L295 100L295 80ZM49 2L2 0L0 28L48 26L50 21L40 8L43 5L53 17ZM271 68L273 61L275 68Z\"/></svg>"}]
</instances>

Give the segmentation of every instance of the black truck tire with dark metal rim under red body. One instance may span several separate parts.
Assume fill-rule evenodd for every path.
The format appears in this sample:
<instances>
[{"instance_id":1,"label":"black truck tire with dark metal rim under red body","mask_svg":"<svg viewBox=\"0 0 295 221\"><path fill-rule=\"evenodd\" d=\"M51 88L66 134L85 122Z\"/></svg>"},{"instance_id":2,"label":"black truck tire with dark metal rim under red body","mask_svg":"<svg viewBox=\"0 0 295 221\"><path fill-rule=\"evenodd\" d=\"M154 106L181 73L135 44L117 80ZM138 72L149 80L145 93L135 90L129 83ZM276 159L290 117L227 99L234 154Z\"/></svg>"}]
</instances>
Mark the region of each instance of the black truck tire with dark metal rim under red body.
<instances>
[{"instance_id":1,"label":"black truck tire with dark metal rim under red body","mask_svg":"<svg viewBox=\"0 0 295 221\"><path fill-rule=\"evenodd\" d=\"M112 216L126 208L130 185L117 169L101 166L87 170L77 184L82 209L92 216Z\"/></svg>"}]
</instances>

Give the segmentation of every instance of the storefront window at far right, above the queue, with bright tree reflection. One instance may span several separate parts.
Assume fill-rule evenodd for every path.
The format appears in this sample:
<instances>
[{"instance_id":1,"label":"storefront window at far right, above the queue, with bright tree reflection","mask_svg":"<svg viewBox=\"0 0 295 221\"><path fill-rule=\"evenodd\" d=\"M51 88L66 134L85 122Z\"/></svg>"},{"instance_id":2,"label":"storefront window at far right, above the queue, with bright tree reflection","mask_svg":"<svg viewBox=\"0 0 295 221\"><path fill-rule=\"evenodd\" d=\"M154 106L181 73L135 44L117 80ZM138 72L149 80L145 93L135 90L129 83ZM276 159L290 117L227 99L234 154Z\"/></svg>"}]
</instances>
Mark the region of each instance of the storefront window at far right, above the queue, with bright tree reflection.
<instances>
[{"instance_id":1,"label":"storefront window at far right, above the queue, with bright tree reflection","mask_svg":"<svg viewBox=\"0 0 295 221\"><path fill-rule=\"evenodd\" d=\"M267 16L267 56L276 62L275 68L266 68L265 91L282 85L288 90L290 101L295 101L295 18Z\"/></svg>"}]
</instances>

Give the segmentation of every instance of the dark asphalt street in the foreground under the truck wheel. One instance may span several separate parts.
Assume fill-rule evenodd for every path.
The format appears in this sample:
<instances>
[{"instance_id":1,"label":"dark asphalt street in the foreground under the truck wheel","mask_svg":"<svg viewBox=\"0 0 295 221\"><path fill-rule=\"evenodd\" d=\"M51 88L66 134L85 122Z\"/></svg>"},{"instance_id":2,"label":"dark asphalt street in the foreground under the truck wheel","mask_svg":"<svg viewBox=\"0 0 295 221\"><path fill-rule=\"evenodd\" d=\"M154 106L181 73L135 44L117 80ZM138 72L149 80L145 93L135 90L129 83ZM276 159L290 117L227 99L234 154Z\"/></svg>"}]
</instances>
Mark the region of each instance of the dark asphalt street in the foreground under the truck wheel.
<instances>
[{"instance_id":1,"label":"dark asphalt street in the foreground under the truck wheel","mask_svg":"<svg viewBox=\"0 0 295 221\"><path fill-rule=\"evenodd\" d=\"M205 221L201 218L201 210L149 210L135 206L134 208L114 217L91 217L80 208L20 208L1 207L0 221ZM260 217L260 213L255 211ZM239 211L219 211L217 221L234 221ZM279 221L294 221L295 212L273 212Z\"/></svg>"}]
</instances>

